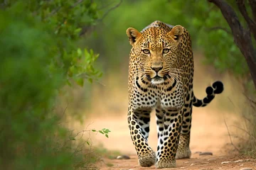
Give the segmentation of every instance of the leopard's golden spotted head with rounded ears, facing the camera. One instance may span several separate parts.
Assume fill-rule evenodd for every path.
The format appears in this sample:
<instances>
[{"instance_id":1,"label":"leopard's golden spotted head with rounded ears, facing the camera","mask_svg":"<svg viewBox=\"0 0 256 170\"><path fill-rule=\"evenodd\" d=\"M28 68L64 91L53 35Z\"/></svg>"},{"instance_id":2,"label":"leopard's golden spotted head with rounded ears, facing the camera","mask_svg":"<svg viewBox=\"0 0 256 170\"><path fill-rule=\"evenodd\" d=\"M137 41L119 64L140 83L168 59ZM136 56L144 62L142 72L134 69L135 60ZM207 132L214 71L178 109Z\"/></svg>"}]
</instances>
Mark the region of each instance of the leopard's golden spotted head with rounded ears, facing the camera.
<instances>
[{"instance_id":1,"label":"leopard's golden spotted head with rounded ears, facing the camera","mask_svg":"<svg viewBox=\"0 0 256 170\"><path fill-rule=\"evenodd\" d=\"M147 28L142 33L128 28L127 36L132 45L131 60L136 65L139 77L146 77L154 85L175 78L182 34L183 27L179 25L169 32L160 27Z\"/></svg>"}]
</instances>

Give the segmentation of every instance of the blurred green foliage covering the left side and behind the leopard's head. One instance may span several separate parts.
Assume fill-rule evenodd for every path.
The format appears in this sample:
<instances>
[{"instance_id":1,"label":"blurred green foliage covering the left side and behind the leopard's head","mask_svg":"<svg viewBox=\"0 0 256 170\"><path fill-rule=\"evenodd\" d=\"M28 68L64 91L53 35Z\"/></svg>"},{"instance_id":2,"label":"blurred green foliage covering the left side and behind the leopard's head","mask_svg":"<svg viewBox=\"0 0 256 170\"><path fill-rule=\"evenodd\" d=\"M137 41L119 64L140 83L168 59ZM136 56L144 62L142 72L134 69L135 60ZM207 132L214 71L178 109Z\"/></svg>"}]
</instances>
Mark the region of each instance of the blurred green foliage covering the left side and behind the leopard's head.
<instances>
[{"instance_id":1,"label":"blurred green foliage covering the left side and behind the leopard's head","mask_svg":"<svg viewBox=\"0 0 256 170\"><path fill-rule=\"evenodd\" d=\"M95 101L126 109L129 27L184 26L201 54L195 60L253 90L228 24L208 1L1 0L0 7L0 169L94 167L90 142L63 122L82 122ZM120 103L104 102L115 94Z\"/></svg>"}]
</instances>

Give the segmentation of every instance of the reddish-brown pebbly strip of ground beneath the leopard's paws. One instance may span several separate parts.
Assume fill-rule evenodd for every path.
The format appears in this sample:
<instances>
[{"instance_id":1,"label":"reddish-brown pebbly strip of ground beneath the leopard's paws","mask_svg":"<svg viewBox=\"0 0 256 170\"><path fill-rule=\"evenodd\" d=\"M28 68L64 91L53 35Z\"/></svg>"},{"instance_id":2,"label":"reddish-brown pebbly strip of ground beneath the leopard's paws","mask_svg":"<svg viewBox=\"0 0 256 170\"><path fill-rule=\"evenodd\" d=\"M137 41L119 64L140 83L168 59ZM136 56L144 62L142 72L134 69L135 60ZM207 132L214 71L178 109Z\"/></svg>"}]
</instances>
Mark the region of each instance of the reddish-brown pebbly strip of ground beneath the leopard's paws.
<instances>
[{"instance_id":1,"label":"reddish-brown pebbly strip of ground beneath the leopard's paws","mask_svg":"<svg viewBox=\"0 0 256 170\"><path fill-rule=\"evenodd\" d=\"M112 166L110 167L110 162ZM256 169L255 159L247 159L245 157L214 157L214 156L196 156L191 159L177 160L177 167L174 169ZM156 169L155 166L142 168L137 164L137 157L132 156L131 159L105 159L100 164L102 170L139 170L139 169Z\"/></svg>"}]
</instances>

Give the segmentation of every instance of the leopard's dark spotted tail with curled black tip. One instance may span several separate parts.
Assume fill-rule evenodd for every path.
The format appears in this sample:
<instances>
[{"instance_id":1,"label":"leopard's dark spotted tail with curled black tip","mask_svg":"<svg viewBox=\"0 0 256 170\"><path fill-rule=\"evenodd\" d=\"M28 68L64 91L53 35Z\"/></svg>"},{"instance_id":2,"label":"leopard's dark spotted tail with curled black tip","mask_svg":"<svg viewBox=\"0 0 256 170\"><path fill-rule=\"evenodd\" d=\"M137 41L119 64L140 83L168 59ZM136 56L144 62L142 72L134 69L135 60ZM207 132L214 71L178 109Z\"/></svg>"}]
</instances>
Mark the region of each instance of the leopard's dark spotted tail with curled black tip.
<instances>
[{"instance_id":1,"label":"leopard's dark spotted tail with curled black tip","mask_svg":"<svg viewBox=\"0 0 256 170\"><path fill-rule=\"evenodd\" d=\"M207 106L208 103L210 103L210 101L213 100L213 98L215 97L215 94L221 94L223 90L224 90L223 83L221 81L215 81L212 86L208 86L206 88L207 96L202 100L196 98L196 96L193 95L193 106L196 106L196 107Z\"/></svg>"}]
</instances>

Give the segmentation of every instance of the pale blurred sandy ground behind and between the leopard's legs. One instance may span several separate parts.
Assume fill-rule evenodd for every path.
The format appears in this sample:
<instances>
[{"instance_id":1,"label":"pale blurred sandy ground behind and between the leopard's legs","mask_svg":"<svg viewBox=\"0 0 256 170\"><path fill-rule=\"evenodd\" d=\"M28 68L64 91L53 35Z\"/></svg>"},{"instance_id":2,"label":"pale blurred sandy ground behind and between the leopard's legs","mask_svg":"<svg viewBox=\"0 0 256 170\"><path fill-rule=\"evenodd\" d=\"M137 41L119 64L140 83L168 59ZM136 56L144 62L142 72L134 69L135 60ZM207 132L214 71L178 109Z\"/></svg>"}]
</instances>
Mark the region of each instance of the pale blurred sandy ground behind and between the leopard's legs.
<instances>
[{"instance_id":1,"label":"pale blurred sandy ground behind and between the leopard's legs","mask_svg":"<svg viewBox=\"0 0 256 170\"><path fill-rule=\"evenodd\" d=\"M225 145L230 143L228 130L225 126L224 118L228 125L235 123L235 117L231 117L228 113L216 115L215 111L200 111L202 108L193 108L192 130L191 130L191 151L192 152L213 152L218 155L225 154ZM110 137L106 139L101 134L95 135L95 140L102 142L107 149L119 150L123 154L136 154L132 145L129 129L127 125L126 115L97 118L88 120L92 123L93 128L100 130L108 128ZM149 145L156 150L157 147L157 131L154 113L151 113L149 133Z\"/></svg>"}]
</instances>

